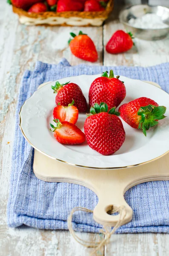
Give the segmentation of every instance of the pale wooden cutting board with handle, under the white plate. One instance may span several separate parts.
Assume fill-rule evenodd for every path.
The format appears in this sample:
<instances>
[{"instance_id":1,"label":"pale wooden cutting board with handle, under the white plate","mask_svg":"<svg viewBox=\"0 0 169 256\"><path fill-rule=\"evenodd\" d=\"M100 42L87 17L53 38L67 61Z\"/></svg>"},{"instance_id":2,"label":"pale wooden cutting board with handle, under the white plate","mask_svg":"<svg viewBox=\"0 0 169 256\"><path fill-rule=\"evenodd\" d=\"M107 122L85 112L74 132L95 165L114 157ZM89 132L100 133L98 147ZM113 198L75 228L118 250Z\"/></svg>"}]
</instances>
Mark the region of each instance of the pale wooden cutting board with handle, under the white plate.
<instances>
[{"instance_id":1,"label":"pale wooden cutting board with handle, under the white plate","mask_svg":"<svg viewBox=\"0 0 169 256\"><path fill-rule=\"evenodd\" d=\"M132 208L123 196L129 188L152 180L169 180L169 152L157 160L135 167L87 169L53 160L35 150L33 168L34 174L40 180L75 183L92 189L99 198L93 211L95 221L103 225L115 226L119 215L107 213L112 207L126 207L126 216L122 215L123 224L132 219Z\"/></svg>"}]
</instances>

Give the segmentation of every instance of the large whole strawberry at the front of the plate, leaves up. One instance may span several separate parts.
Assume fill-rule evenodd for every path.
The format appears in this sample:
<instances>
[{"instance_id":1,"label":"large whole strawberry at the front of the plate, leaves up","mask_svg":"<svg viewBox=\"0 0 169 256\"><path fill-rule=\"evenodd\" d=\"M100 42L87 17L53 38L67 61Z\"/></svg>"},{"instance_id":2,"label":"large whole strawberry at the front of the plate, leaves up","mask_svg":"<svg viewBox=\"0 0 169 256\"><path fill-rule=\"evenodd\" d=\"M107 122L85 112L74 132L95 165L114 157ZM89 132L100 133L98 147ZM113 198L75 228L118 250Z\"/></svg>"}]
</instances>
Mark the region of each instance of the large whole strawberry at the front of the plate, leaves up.
<instances>
[{"instance_id":1,"label":"large whole strawberry at the front of the plate, leaves up","mask_svg":"<svg viewBox=\"0 0 169 256\"><path fill-rule=\"evenodd\" d=\"M84 131L89 147L100 154L114 154L125 140L123 124L115 112L115 107L108 111L108 105L95 103L90 109L92 115L85 120Z\"/></svg>"}]
</instances>

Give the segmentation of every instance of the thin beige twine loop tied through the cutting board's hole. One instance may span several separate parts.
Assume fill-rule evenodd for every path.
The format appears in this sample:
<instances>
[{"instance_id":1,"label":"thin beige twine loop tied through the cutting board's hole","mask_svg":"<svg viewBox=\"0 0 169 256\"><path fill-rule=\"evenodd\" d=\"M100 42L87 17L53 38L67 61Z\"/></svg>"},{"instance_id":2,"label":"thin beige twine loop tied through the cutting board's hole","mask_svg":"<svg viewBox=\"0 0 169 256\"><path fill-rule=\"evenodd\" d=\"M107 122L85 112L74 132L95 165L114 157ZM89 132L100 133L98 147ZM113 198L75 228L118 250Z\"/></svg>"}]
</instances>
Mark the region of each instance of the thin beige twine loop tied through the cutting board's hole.
<instances>
[{"instance_id":1,"label":"thin beige twine loop tied through the cutting board's hole","mask_svg":"<svg viewBox=\"0 0 169 256\"><path fill-rule=\"evenodd\" d=\"M92 253L90 254L90 256L94 255L95 253L97 253L98 250L100 250L101 247L103 247L105 244L108 244L110 241L110 237L112 236L112 234L115 233L115 231L123 224L123 220L126 217L126 207L124 206L120 206L120 207L112 207L112 210L109 211L109 214L113 214L116 212L119 212L119 220L117 221L117 223L115 224L115 226L110 227L110 226L103 226L103 229L100 230L100 233L103 233L104 238L98 242L91 242L91 241L85 241L83 239L80 239L80 237L78 237L76 235L76 233L73 230L72 227L72 218L73 218L73 214L74 212L77 211L83 211L83 212L90 212L93 213L92 210L87 209L85 207L75 207L72 209L69 217L68 217L68 228L69 228L69 232L71 233L71 235L74 237L74 239L81 245L83 245L86 248L95 248L95 250L92 251ZM124 213L124 214L123 214ZM123 218L122 218L123 215Z\"/></svg>"}]
</instances>

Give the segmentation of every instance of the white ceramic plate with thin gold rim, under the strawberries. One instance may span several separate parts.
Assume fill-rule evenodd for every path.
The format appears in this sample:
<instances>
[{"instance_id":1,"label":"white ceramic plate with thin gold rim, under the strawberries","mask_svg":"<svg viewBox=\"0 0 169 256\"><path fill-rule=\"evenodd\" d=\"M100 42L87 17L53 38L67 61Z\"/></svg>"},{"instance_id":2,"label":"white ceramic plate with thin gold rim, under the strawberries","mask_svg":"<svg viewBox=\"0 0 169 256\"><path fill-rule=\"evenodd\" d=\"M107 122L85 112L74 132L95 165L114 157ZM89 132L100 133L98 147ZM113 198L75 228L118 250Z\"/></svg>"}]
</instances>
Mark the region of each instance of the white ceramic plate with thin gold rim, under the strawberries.
<instances>
[{"instance_id":1,"label":"white ceramic plate with thin gold rim, under the strawberries","mask_svg":"<svg viewBox=\"0 0 169 256\"><path fill-rule=\"evenodd\" d=\"M88 99L89 87L94 76L74 76L60 79L63 84L67 81L80 86ZM126 98L123 103L139 97L148 97L159 105L166 106L166 116L169 116L169 94L152 84L120 76L126 86ZM150 129L145 137L140 130L131 128L123 122L126 140L122 147L113 155L103 156L87 143L82 145L62 145L58 143L53 133L49 131L49 123L53 123L52 112L55 107L55 96L51 89L55 81L46 84L26 100L20 111L20 128L24 137L38 151L47 156L76 166L89 168L114 169L135 166L146 163L162 156L169 151L169 117L159 121L159 125ZM77 126L83 131L86 114L80 114Z\"/></svg>"}]
</instances>

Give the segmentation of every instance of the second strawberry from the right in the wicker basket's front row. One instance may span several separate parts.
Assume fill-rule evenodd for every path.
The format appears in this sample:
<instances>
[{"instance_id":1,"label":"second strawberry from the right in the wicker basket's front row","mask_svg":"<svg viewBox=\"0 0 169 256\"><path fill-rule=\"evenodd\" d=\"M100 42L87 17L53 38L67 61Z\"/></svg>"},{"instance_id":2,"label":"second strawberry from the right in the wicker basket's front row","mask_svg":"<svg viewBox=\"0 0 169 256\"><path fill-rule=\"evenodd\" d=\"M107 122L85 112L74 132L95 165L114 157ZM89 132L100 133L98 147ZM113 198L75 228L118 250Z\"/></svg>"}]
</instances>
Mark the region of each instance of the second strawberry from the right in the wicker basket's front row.
<instances>
[{"instance_id":1,"label":"second strawberry from the right in the wicker basket's front row","mask_svg":"<svg viewBox=\"0 0 169 256\"><path fill-rule=\"evenodd\" d=\"M78 0L58 0L57 12L83 11L84 4Z\"/></svg>"}]
</instances>

